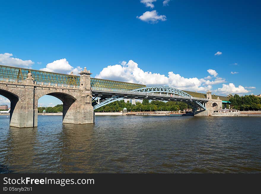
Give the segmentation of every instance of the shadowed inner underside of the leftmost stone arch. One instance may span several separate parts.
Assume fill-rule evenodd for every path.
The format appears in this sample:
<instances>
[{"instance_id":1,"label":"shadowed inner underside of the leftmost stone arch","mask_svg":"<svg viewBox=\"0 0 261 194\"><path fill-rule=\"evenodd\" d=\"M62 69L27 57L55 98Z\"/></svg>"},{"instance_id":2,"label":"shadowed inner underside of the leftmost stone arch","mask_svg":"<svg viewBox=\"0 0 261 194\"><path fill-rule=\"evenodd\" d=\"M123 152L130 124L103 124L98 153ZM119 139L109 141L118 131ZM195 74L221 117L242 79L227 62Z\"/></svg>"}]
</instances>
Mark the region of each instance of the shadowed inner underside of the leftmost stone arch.
<instances>
[{"instance_id":1,"label":"shadowed inner underside of the leftmost stone arch","mask_svg":"<svg viewBox=\"0 0 261 194\"><path fill-rule=\"evenodd\" d=\"M1 96L4 97L3 98L4 102L8 102L8 100L10 101L9 103L6 103L6 104L7 105L10 104L10 116L9 116L10 119L9 119L9 122L11 123L16 104L19 101L19 97L16 94L13 94L12 92L9 92L9 91L3 90L3 89L0 89L0 97ZM6 100L6 99L8 99L8 100ZM15 118L13 118L13 120L14 119Z\"/></svg>"}]
</instances>

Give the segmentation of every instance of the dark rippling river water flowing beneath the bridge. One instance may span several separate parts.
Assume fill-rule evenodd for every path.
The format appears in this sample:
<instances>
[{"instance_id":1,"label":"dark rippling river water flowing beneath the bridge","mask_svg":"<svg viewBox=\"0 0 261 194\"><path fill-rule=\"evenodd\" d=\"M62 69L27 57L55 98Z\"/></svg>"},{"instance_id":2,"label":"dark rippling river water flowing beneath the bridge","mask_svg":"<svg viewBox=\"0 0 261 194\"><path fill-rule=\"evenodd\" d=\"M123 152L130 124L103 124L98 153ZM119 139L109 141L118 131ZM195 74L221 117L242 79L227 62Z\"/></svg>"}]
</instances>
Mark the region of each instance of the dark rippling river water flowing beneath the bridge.
<instances>
[{"instance_id":1,"label":"dark rippling river water flowing beneath the bridge","mask_svg":"<svg viewBox=\"0 0 261 194\"><path fill-rule=\"evenodd\" d=\"M0 172L261 172L261 117L96 116L37 128L9 127L0 116Z\"/></svg>"}]
</instances>

